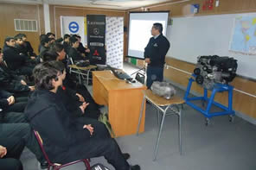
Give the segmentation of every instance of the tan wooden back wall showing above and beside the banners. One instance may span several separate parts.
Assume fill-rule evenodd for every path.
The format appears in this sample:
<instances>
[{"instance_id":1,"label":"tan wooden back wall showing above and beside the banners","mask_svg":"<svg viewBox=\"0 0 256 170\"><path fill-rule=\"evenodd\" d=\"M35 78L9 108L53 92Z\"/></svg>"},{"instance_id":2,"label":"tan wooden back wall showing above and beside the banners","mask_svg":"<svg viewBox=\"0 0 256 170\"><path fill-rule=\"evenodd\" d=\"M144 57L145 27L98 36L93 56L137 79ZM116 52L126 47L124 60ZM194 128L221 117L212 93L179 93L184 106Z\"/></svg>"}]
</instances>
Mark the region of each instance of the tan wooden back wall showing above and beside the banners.
<instances>
[{"instance_id":1,"label":"tan wooden back wall showing above and beside the banners","mask_svg":"<svg viewBox=\"0 0 256 170\"><path fill-rule=\"evenodd\" d=\"M124 20L126 23L125 10L95 9L95 8L82 8L82 7L73 7L73 6L49 5L49 12L50 12L51 31L55 33L57 38L61 37L61 16L84 16L84 17L86 17L86 15L122 16L124 17ZM125 32L124 54L127 53L126 37L127 37L127 34Z\"/></svg>"}]
</instances>

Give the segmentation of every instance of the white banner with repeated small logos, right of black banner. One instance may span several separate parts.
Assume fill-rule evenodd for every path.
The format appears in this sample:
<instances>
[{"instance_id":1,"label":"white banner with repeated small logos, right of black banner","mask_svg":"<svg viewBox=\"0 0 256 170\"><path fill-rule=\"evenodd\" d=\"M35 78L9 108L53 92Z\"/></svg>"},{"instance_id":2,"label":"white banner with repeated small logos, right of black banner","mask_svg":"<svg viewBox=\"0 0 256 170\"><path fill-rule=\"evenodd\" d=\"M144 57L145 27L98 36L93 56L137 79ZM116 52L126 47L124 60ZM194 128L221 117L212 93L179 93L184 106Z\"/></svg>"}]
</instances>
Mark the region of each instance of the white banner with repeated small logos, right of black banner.
<instances>
[{"instance_id":1,"label":"white banner with repeated small logos, right of black banner","mask_svg":"<svg viewBox=\"0 0 256 170\"><path fill-rule=\"evenodd\" d=\"M106 17L106 64L123 69L124 17Z\"/></svg>"}]
</instances>

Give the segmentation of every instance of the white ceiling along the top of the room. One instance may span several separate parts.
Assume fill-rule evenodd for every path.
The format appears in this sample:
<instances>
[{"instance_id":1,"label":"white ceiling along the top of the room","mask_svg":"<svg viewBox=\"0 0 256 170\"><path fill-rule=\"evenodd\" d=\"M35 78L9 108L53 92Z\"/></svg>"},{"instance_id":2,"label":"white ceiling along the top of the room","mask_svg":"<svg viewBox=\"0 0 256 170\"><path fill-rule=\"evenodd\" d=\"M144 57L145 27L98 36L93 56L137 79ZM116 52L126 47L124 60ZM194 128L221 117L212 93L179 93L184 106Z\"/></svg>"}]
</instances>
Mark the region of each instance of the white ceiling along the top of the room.
<instances>
[{"instance_id":1,"label":"white ceiling along the top of the room","mask_svg":"<svg viewBox=\"0 0 256 170\"><path fill-rule=\"evenodd\" d=\"M174 0L0 0L4 3L56 4L105 9L134 9Z\"/></svg>"}]
</instances>

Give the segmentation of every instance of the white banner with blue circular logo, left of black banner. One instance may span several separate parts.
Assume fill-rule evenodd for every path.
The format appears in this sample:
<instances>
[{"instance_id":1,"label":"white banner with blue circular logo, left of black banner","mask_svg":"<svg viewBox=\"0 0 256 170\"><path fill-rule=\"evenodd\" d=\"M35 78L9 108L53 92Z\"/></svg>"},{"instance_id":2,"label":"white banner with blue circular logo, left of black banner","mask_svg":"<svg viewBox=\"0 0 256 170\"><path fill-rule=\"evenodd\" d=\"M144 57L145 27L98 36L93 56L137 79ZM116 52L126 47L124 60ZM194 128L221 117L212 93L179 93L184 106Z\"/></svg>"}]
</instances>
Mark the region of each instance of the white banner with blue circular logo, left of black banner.
<instances>
[{"instance_id":1,"label":"white banner with blue circular logo, left of black banner","mask_svg":"<svg viewBox=\"0 0 256 170\"><path fill-rule=\"evenodd\" d=\"M83 16L61 16L61 37L64 35L80 35L81 42L86 45L86 18Z\"/></svg>"}]
</instances>

